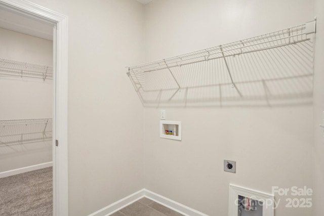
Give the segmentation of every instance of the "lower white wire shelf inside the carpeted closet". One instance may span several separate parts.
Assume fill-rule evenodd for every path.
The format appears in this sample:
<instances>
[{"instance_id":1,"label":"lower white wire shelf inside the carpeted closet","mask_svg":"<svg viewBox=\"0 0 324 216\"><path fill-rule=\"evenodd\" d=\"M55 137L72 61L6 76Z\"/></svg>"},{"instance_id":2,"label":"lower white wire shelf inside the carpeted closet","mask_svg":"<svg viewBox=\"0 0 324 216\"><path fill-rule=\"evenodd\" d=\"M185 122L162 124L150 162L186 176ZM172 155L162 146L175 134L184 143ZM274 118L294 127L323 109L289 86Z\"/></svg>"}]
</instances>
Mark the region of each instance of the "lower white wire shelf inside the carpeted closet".
<instances>
[{"instance_id":1,"label":"lower white wire shelf inside the carpeted closet","mask_svg":"<svg viewBox=\"0 0 324 216\"><path fill-rule=\"evenodd\" d=\"M50 141L52 123L52 118L0 120L0 144Z\"/></svg>"}]
</instances>

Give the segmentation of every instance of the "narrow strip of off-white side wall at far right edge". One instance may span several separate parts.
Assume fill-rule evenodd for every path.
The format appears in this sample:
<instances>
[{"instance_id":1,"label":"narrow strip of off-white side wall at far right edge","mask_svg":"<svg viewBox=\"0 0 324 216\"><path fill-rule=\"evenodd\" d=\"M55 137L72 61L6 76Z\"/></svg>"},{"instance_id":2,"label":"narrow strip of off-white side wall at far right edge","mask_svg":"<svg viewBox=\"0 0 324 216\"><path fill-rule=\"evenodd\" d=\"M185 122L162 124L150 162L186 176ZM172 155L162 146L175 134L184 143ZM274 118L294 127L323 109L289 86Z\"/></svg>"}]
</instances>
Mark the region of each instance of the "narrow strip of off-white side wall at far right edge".
<instances>
[{"instance_id":1,"label":"narrow strip of off-white side wall at far right edge","mask_svg":"<svg viewBox=\"0 0 324 216\"><path fill-rule=\"evenodd\" d=\"M314 215L323 214L322 194L324 194L324 132L318 124L324 123L324 2L314 1L314 14L317 18L316 46L315 46L315 65L314 65Z\"/></svg>"}]
</instances>

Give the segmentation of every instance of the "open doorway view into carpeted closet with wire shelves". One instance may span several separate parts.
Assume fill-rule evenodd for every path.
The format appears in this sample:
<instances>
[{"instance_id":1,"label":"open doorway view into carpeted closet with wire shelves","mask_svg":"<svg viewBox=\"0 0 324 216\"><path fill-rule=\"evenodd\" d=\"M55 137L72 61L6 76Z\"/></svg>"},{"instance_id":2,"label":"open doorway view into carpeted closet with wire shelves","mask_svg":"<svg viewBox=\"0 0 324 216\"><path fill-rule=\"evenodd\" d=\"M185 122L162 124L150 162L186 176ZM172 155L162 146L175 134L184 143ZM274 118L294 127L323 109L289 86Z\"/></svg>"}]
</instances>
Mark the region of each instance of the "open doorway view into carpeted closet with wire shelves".
<instances>
[{"instance_id":1,"label":"open doorway view into carpeted closet with wire shelves","mask_svg":"<svg viewBox=\"0 0 324 216\"><path fill-rule=\"evenodd\" d=\"M52 32L0 10L0 215L53 214Z\"/></svg>"}]
</instances>

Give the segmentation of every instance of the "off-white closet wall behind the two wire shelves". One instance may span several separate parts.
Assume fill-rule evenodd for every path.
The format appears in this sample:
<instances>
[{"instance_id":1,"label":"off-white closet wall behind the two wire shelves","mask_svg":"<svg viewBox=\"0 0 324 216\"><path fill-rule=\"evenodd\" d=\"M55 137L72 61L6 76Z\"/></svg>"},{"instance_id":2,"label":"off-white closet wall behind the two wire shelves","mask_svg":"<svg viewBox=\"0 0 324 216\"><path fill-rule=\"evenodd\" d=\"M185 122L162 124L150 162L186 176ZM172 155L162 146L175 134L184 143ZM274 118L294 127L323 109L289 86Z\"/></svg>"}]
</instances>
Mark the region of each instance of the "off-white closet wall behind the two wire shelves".
<instances>
[{"instance_id":1,"label":"off-white closet wall behind the two wire shelves","mask_svg":"<svg viewBox=\"0 0 324 216\"><path fill-rule=\"evenodd\" d=\"M52 65L53 42L0 28L0 58ZM52 118L52 80L0 75L0 92L1 120ZM22 133L17 126L11 128L12 134ZM7 128L1 130L1 136L10 134ZM32 130L36 131L36 128ZM24 135L24 139L27 136ZM41 135L29 136L28 139L40 138L39 136ZM13 139L2 137L2 141ZM37 140L23 145L0 144L0 172L50 161L51 140Z\"/></svg>"}]
</instances>

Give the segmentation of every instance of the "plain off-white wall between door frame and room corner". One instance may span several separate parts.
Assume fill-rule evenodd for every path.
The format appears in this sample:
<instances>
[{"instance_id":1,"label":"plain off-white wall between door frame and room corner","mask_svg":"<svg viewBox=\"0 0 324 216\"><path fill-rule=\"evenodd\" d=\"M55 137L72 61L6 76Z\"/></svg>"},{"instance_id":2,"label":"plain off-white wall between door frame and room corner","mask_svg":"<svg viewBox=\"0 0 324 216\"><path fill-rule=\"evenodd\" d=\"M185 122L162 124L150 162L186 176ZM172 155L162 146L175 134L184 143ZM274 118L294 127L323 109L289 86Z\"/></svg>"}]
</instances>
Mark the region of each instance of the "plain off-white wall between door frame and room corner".
<instances>
[{"instance_id":1,"label":"plain off-white wall between door frame and room corner","mask_svg":"<svg viewBox=\"0 0 324 216\"><path fill-rule=\"evenodd\" d=\"M32 0L68 16L69 215L142 188L143 107L126 66L143 61L136 0Z\"/></svg>"}]
</instances>

